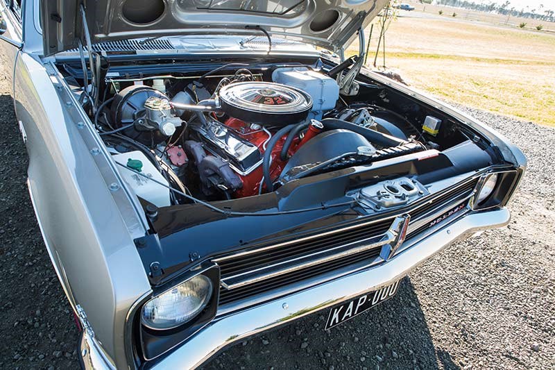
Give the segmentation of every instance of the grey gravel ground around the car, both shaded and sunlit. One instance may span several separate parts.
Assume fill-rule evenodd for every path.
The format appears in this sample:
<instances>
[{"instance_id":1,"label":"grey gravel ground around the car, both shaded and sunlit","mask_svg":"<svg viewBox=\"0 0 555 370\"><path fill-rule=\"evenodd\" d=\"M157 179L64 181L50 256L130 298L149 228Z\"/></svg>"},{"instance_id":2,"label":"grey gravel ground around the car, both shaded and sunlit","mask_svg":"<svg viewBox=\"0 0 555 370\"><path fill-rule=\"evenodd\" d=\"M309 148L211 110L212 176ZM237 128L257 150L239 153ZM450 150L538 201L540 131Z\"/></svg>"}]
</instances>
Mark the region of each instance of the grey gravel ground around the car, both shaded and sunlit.
<instances>
[{"instance_id":1,"label":"grey gravel ground around the car, both shaded and sunlit","mask_svg":"<svg viewBox=\"0 0 555 370\"><path fill-rule=\"evenodd\" d=\"M75 369L77 330L28 199L5 76L0 369ZM511 224L450 246L402 280L397 296L341 326L324 331L323 315L307 317L229 348L206 369L555 368L555 130L463 110L527 155Z\"/></svg>"}]
</instances>

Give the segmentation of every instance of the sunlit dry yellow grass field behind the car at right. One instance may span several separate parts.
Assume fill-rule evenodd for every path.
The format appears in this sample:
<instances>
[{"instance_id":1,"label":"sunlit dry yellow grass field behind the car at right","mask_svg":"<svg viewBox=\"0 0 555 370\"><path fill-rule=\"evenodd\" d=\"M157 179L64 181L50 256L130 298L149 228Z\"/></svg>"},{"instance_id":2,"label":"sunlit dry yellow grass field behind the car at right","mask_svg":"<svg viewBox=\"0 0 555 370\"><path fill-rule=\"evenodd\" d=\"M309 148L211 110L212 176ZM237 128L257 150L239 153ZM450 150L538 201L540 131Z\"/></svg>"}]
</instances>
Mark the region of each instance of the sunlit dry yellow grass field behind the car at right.
<instances>
[{"instance_id":1,"label":"sunlit dry yellow grass field behind the car at right","mask_svg":"<svg viewBox=\"0 0 555 370\"><path fill-rule=\"evenodd\" d=\"M375 26L368 64L378 36ZM555 33L402 11L386 33L386 66L447 101L555 126Z\"/></svg>"}]
</instances>

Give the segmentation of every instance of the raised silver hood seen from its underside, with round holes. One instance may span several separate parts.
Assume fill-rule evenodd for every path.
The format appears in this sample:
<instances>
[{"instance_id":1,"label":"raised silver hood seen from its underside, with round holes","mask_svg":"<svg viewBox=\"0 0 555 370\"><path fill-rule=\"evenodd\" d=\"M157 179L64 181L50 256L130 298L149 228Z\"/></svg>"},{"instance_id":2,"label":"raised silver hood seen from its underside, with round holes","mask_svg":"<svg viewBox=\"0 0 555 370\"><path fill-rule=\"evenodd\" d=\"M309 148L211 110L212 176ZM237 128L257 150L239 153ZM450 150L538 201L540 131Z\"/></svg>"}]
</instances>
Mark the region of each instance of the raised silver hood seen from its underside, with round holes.
<instances>
[{"instance_id":1,"label":"raised silver hood seen from its underside, with round holes","mask_svg":"<svg viewBox=\"0 0 555 370\"><path fill-rule=\"evenodd\" d=\"M263 35L338 51L350 44L388 0L85 0L41 1L44 55L85 42L164 35ZM248 29L246 26L250 26Z\"/></svg>"}]
</instances>

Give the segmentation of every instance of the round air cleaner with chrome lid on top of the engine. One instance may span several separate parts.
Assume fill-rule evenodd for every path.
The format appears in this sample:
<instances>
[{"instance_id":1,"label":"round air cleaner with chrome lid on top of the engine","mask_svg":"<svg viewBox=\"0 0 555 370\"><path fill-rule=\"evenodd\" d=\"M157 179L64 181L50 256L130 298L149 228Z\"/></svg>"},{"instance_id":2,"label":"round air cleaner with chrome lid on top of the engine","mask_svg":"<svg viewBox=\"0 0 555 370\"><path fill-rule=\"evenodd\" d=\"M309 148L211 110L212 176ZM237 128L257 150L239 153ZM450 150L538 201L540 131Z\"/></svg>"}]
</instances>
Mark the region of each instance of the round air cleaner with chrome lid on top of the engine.
<instances>
[{"instance_id":1,"label":"round air cleaner with chrome lid on top of the engine","mask_svg":"<svg viewBox=\"0 0 555 370\"><path fill-rule=\"evenodd\" d=\"M222 87L221 110L246 122L285 126L304 121L312 99L306 92L278 83L243 82Z\"/></svg>"}]
</instances>

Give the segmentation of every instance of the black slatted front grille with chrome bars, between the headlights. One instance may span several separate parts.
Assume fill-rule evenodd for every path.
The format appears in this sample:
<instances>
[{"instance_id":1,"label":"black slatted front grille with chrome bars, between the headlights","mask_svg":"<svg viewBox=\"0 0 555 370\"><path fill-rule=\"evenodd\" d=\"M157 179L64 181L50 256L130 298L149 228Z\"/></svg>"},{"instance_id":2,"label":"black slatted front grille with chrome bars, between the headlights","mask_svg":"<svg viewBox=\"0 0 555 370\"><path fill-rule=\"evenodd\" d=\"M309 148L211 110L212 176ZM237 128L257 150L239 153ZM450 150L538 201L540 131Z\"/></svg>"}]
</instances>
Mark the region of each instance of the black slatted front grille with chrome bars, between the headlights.
<instances>
[{"instance_id":1,"label":"black slatted front grille with chrome bars, between the headlights","mask_svg":"<svg viewBox=\"0 0 555 370\"><path fill-rule=\"evenodd\" d=\"M407 239L425 231L429 227L427 219L430 217L441 214L445 208L451 208L467 201L476 185L477 178L443 192L443 194L436 196L432 201L416 205L412 211L409 211L411 224L413 222L418 224L418 221L423 224L417 225L414 230L409 230ZM326 260L314 265L307 264L307 267L296 269L295 271L284 270L287 272L277 274L276 276L268 275L267 278L263 277L261 280L251 279L244 285L238 283L234 286L226 286L225 283L226 281L228 283L232 282L237 276L239 276L240 280L242 276L250 277L253 274L256 275L259 271L267 269L268 266L274 267L280 263L287 263L289 260L303 260L307 255L318 255L318 253L341 249L342 246L343 248L349 248L350 244L356 246L357 242L362 242L364 245L365 239L385 240L386 235L389 235L391 232L392 224L395 224L395 220L388 218L374 221L373 223L343 227L339 230L319 233L318 235L302 235L294 240L267 246L262 245L252 251L216 258L215 260L221 269L223 282L223 287L221 287L220 291L220 305L226 305L262 292L268 292L286 285L298 283L302 280L308 280L309 278L314 278L359 262L378 263L381 261L379 253L383 243L375 244L375 246L372 244L369 249L342 255L341 258Z\"/></svg>"}]
</instances>

